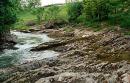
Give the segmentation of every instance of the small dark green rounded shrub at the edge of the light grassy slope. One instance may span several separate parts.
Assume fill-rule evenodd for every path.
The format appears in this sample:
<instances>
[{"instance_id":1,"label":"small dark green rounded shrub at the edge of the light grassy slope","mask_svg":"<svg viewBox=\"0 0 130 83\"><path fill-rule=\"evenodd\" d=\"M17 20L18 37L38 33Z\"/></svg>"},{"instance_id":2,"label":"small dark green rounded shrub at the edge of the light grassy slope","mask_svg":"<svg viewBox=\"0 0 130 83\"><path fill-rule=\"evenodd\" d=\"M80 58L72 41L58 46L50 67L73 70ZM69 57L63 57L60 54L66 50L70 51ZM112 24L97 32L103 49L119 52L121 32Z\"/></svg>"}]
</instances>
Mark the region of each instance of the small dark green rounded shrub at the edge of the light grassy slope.
<instances>
[{"instance_id":1,"label":"small dark green rounded shrub at the edge of the light grassy slope","mask_svg":"<svg viewBox=\"0 0 130 83\"><path fill-rule=\"evenodd\" d=\"M82 14L82 3L81 2L73 2L68 4L68 21L76 22L77 18Z\"/></svg>"}]
</instances>

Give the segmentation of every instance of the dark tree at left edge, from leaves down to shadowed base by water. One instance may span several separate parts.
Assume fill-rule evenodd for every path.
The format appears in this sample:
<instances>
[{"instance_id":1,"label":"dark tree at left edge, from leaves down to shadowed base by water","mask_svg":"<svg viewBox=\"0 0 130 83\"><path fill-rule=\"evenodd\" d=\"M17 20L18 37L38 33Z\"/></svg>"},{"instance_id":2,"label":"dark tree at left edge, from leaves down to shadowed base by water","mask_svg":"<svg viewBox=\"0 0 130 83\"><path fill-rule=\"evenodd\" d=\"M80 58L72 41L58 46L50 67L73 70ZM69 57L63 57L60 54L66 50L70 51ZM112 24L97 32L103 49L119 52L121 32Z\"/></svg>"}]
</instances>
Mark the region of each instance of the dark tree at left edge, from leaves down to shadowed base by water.
<instances>
[{"instance_id":1,"label":"dark tree at left edge, from leaves down to shadowed base by water","mask_svg":"<svg viewBox=\"0 0 130 83\"><path fill-rule=\"evenodd\" d=\"M0 45L10 39L10 28L17 20L19 2L20 0L0 0Z\"/></svg>"}]
</instances>

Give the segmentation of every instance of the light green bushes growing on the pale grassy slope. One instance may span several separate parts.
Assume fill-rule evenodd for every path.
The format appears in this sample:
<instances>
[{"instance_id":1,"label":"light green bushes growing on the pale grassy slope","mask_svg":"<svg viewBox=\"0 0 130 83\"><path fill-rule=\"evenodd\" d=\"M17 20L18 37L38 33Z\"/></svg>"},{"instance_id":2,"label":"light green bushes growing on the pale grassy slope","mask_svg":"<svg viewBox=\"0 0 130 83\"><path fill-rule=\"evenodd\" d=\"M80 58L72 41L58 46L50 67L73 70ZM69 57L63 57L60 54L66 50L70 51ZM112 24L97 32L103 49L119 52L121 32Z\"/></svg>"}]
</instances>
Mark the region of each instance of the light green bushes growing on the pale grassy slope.
<instances>
[{"instance_id":1,"label":"light green bushes growing on the pale grassy slope","mask_svg":"<svg viewBox=\"0 0 130 83\"><path fill-rule=\"evenodd\" d=\"M49 7L37 7L31 10L32 14L37 17L37 22L55 20L59 18L60 9L56 5L51 5Z\"/></svg>"}]
</instances>

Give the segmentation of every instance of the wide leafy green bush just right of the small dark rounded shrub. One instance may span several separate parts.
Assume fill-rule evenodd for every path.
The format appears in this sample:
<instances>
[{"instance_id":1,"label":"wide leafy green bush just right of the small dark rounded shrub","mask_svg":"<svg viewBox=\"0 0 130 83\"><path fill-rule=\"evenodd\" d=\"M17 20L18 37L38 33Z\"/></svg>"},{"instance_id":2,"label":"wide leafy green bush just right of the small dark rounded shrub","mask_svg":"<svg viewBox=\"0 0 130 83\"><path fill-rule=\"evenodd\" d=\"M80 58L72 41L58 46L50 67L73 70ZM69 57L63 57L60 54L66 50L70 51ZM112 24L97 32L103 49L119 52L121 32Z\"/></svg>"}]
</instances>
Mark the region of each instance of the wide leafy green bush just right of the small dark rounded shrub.
<instances>
[{"instance_id":1,"label":"wide leafy green bush just right of the small dark rounded shrub","mask_svg":"<svg viewBox=\"0 0 130 83\"><path fill-rule=\"evenodd\" d=\"M87 20L106 20L110 12L109 0L83 0Z\"/></svg>"}]
</instances>

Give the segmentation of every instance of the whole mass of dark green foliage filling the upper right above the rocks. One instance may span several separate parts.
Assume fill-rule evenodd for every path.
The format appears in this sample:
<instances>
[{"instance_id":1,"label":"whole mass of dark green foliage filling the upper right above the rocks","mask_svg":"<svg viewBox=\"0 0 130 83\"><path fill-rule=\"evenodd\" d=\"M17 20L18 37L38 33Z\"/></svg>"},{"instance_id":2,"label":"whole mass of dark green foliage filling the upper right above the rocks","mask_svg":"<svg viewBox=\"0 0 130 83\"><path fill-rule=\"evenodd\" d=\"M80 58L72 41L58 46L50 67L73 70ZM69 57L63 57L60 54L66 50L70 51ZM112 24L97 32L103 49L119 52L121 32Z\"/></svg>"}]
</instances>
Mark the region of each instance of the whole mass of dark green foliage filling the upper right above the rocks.
<instances>
[{"instance_id":1,"label":"whole mass of dark green foliage filling the upper right above the rocks","mask_svg":"<svg viewBox=\"0 0 130 83\"><path fill-rule=\"evenodd\" d=\"M130 27L130 0L83 0L86 21Z\"/></svg>"}]
</instances>

